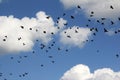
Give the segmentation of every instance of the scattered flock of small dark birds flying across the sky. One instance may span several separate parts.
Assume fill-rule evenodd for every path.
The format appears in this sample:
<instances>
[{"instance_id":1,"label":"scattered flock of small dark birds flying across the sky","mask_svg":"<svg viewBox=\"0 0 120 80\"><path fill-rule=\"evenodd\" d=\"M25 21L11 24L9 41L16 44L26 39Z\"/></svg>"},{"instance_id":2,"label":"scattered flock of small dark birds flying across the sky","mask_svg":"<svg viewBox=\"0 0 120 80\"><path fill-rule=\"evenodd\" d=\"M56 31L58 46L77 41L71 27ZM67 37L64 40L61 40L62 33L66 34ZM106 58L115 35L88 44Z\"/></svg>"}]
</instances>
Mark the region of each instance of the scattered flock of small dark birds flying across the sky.
<instances>
[{"instance_id":1,"label":"scattered flock of small dark birds flying across the sky","mask_svg":"<svg viewBox=\"0 0 120 80\"><path fill-rule=\"evenodd\" d=\"M78 9L82 9L80 5L78 5L78 6L76 6L76 7L77 7ZM114 7L113 7L112 5L110 5L110 9L114 9ZM91 17L94 17L94 14L95 14L95 12L94 12L94 11L91 11L91 13L90 13L90 18L88 19L88 22L91 22L91 21L92 21L92 20L91 20ZM64 17L64 16L66 16L66 15L67 15L66 13L63 13L62 16ZM50 16L47 16L46 18L49 19ZM60 17L57 18L57 21L56 21L57 23L59 23L59 19L60 19ZM70 19L74 20L74 19L75 19L75 16L71 15L71 16L70 16ZM104 22L105 22L106 20L107 20L107 18L102 17L102 18L96 20L96 22L99 23L99 24L101 24L101 25L105 25ZM118 21L120 21L120 17L118 18ZM111 21L110 21L110 25L114 25L114 24L115 24L115 22L111 20ZM67 26L68 23L65 23L64 25ZM89 27L89 25L86 24L86 27ZM20 28L21 28L21 29L24 29L24 26L21 25ZM72 27L69 27L69 28L72 29ZM60 29L60 27L58 27L58 29ZM79 27L77 27L76 30L75 30L75 33L76 33L76 34L79 33L78 29L79 29ZM29 28L29 30L33 30L33 29L32 29L32 28ZM92 28L90 28L90 31L93 32L93 35L94 35L94 36L96 36L97 32L99 32L99 30L98 30L97 27L92 27ZM36 32L38 32L37 29L36 29ZM106 29L105 27L103 27L103 32L107 33L107 32L109 32L109 30ZM46 31L43 31L43 33L46 34L47 32L46 32ZM64 34L66 34L66 33L67 33L67 32L65 31ZM116 30L114 33L115 33L115 34L120 33L120 29ZM54 35L53 32L51 32L51 34ZM4 39L3 39L4 42L7 41L7 40L6 40L7 37L8 37L7 35L4 37ZM72 36L66 34L66 37L69 38L69 39L71 39ZM22 39L22 37L19 37L19 38L18 38L18 41L21 40L21 39ZM88 42L88 41L89 41L89 40L86 40L85 42ZM94 40L92 39L92 40L90 40L90 41L93 42ZM40 43L39 40L36 40L36 42L37 42L37 43ZM25 46L25 45L27 45L27 44L26 44L26 43L23 43L23 46ZM45 53L48 53L54 46L55 46L56 50L58 50L58 51L64 50L64 52L69 52L69 49L62 49L61 47L56 47L56 41L52 41L49 46L41 43L41 44L39 44L39 49L40 49L40 50L44 50ZM54 49L55 49L55 48L54 48ZM33 50L33 51L32 51L33 54L36 54L36 52L37 52L36 50ZM97 50L97 53L98 53L98 52L99 52L99 50ZM116 56L116 58L119 58L120 54L118 53L118 54L116 54L115 56ZM17 63L20 64L20 63L22 62L22 59L23 59L23 58L26 58L26 59L27 59L27 58L28 58L28 55L19 56L19 60L17 60ZM54 58L54 55L48 55L48 58L53 59L53 58ZM10 59L11 59L11 60L14 60L14 57L10 57ZM54 64L54 63L55 63L55 60L52 60L51 63ZM44 64L40 64L40 66L41 66L41 67L44 67ZM4 77L3 74L4 74L4 73L0 72L0 80L9 80L9 79L7 79L7 78L2 79L2 77ZM12 76L13 73L10 73L9 75ZM24 73L22 73L22 74L19 74L18 76L19 76L19 77L26 77L27 75L29 75L29 73L28 73L28 72L24 72Z\"/></svg>"}]
</instances>

